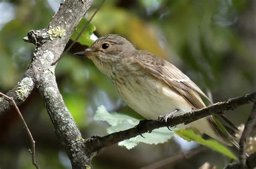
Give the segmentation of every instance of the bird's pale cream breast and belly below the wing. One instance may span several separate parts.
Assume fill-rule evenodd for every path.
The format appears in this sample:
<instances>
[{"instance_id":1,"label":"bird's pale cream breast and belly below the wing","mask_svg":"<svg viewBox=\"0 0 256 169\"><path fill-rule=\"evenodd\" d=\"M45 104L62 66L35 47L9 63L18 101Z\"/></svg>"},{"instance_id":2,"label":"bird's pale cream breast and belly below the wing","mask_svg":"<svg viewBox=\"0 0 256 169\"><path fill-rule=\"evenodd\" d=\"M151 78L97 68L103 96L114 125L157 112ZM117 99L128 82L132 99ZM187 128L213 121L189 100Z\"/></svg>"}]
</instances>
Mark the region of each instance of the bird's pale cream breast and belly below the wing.
<instances>
[{"instance_id":1,"label":"bird's pale cream breast and belly below the wing","mask_svg":"<svg viewBox=\"0 0 256 169\"><path fill-rule=\"evenodd\" d=\"M179 108L180 96L147 73L119 74L112 81L124 102L146 119L157 119Z\"/></svg>"}]
</instances>

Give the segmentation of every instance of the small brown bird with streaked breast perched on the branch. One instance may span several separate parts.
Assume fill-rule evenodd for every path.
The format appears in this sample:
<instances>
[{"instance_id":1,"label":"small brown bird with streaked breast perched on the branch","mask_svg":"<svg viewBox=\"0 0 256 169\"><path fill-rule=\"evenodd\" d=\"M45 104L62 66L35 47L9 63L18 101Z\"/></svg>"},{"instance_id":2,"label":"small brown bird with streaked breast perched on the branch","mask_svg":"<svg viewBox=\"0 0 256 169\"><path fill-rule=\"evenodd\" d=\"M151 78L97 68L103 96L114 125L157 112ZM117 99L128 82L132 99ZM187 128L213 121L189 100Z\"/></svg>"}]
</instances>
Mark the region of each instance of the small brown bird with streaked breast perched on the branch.
<instances>
[{"instance_id":1,"label":"small brown bird with streaked breast perched on the branch","mask_svg":"<svg viewBox=\"0 0 256 169\"><path fill-rule=\"evenodd\" d=\"M90 58L112 80L124 102L146 119L201 109L205 107L202 98L211 103L177 67L150 52L136 50L119 35L100 37L91 48L75 54ZM225 116L221 117L233 130L237 129ZM212 116L188 124L221 144L238 147L233 130L227 132L223 125L219 125Z\"/></svg>"}]
</instances>

